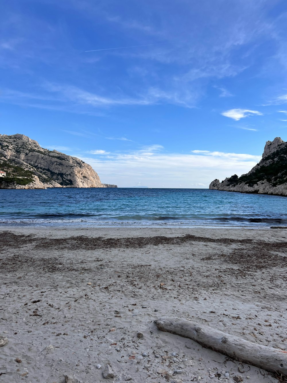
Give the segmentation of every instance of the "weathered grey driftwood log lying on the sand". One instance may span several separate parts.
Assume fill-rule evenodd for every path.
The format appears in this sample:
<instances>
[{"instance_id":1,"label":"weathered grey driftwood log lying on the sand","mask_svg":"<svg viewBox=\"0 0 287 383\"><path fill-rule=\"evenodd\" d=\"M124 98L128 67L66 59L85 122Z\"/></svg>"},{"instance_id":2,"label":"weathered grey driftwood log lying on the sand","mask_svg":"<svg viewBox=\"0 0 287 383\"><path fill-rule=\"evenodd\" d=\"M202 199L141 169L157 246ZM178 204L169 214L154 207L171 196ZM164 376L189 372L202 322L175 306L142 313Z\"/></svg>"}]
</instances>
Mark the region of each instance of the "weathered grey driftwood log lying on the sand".
<instances>
[{"instance_id":1,"label":"weathered grey driftwood log lying on the sand","mask_svg":"<svg viewBox=\"0 0 287 383\"><path fill-rule=\"evenodd\" d=\"M155 324L161 331L195 340L203 347L220 352L232 359L287 376L287 351L252 343L186 319L160 318L155 321Z\"/></svg>"}]
</instances>

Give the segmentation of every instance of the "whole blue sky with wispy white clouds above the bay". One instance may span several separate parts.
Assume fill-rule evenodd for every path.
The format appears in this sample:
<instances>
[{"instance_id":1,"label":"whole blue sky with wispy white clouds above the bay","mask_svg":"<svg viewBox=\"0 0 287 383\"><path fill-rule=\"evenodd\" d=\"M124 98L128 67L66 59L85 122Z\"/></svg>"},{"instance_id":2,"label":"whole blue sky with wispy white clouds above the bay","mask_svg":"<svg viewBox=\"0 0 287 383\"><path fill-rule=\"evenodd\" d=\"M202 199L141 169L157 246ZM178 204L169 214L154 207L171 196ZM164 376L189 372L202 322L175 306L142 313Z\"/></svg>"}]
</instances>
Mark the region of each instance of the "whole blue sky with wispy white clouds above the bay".
<instances>
[{"instance_id":1,"label":"whole blue sky with wispy white clouds above the bay","mask_svg":"<svg viewBox=\"0 0 287 383\"><path fill-rule=\"evenodd\" d=\"M208 188L287 141L286 0L0 4L0 134L119 187Z\"/></svg>"}]
</instances>

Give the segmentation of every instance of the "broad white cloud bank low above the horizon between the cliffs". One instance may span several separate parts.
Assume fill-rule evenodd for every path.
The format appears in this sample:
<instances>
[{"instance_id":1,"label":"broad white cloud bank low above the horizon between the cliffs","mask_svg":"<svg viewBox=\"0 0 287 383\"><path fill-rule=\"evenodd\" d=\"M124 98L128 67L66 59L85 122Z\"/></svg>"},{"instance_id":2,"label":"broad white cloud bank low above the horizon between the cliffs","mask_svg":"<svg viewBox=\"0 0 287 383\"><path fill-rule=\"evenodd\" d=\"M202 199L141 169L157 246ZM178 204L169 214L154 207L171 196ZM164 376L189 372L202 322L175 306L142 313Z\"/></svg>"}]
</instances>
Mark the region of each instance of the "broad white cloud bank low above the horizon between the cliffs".
<instances>
[{"instance_id":1,"label":"broad white cloud bank low above the horizon between the cliffs","mask_svg":"<svg viewBox=\"0 0 287 383\"><path fill-rule=\"evenodd\" d=\"M77 157L92 165L102 182L115 183L119 187L134 186L141 182L148 187L164 185L184 188L208 188L215 178L222 180L234 173L247 173L261 159L261 156L251 154L217 151L178 154L143 150L96 158Z\"/></svg>"}]
</instances>

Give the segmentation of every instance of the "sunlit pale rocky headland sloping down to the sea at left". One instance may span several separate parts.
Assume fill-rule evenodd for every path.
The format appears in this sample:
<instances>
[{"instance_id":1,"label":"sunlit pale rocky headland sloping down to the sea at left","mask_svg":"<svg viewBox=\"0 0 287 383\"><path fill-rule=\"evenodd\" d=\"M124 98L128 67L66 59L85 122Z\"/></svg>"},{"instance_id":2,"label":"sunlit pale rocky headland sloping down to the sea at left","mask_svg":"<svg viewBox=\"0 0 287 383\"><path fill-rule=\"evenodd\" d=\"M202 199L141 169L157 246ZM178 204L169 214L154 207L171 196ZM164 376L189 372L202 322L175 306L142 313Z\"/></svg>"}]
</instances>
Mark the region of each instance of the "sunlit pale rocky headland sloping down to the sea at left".
<instances>
[{"instance_id":1,"label":"sunlit pale rocky headland sloping down to the sea at left","mask_svg":"<svg viewBox=\"0 0 287 383\"><path fill-rule=\"evenodd\" d=\"M116 187L102 184L95 170L82 160L43 149L23 134L0 134L0 170L7 175L0 178L2 189Z\"/></svg>"}]
</instances>

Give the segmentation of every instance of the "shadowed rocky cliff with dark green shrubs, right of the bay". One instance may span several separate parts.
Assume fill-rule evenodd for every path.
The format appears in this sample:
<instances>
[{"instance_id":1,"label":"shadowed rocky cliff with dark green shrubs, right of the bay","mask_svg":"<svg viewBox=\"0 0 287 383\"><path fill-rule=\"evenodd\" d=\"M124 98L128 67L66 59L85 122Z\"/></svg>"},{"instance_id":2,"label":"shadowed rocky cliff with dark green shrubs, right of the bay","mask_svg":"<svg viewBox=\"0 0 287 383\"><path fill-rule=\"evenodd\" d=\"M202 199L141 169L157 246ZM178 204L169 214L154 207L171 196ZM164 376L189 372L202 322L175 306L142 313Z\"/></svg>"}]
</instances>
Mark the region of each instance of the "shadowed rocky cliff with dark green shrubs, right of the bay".
<instances>
[{"instance_id":1,"label":"shadowed rocky cliff with dark green shrubs, right of the bay","mask_svg":"<svg viewBox=\"0 0 287 383\"><path fill-rule=\"evenodd\" d=\"M267 141L262 159L249 173L214 180L209 189L287 196L287 142L280 137Z\"/></svg>"}]
</instances>

